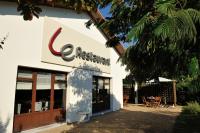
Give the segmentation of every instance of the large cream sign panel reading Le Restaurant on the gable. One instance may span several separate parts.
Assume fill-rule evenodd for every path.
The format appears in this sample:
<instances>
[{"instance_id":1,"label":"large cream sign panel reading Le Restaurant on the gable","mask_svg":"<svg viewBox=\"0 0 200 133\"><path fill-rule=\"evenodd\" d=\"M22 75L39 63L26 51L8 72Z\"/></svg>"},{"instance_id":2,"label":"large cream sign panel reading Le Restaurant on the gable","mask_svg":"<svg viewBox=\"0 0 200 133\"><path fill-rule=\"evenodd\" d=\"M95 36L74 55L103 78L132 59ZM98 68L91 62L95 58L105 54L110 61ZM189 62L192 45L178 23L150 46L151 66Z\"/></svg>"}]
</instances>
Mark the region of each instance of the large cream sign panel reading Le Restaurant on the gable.
<instances>
[{"instance_id":1,"label":"large cream sign panel reading Le Restaurant on the gable","mask_svg":"<svg viewBox=\"0 0 200 133\"><path fill-rule=\"evenodd\" d=\"M111 48L102 43L101 33L66 22L44 18L41 61L110 73Z\"/></svg>"}]
</instances>

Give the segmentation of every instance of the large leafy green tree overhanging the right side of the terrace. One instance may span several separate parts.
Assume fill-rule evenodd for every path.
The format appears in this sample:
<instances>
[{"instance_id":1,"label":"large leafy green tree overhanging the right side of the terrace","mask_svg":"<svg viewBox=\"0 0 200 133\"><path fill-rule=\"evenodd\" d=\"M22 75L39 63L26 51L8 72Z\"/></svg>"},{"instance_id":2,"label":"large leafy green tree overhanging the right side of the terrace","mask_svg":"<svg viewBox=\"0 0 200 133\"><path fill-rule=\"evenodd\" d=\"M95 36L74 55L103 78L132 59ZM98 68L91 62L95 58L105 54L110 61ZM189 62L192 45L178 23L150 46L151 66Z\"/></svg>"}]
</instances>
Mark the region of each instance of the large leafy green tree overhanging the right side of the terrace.
<instances>
[{"instance_id":1,"label":"large leafy green tree overhanging the right side of the terrace","mask_svg":"<svg viewBox=\"0 0 200 133\"><path fill-rule=\"evenodd\" d=\"M193 4L192 4L193 3ZM199 1L115 1L103 25L121 41L137 41L122 58L139 81L190 75L192 59L199 64ZM195 5L195 8L193 8ZM194 63L194 62L193 62Z\"/></svg>"}]
</instances>

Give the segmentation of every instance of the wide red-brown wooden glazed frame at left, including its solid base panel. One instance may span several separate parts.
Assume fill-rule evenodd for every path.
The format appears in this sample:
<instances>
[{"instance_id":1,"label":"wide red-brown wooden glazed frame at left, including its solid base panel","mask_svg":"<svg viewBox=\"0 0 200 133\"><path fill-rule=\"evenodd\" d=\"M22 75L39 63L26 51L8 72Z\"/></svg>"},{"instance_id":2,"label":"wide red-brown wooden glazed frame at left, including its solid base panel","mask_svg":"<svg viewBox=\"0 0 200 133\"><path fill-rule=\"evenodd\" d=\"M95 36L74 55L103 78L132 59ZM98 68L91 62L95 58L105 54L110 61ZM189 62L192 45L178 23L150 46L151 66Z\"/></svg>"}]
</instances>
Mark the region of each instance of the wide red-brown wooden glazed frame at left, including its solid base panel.
<instances>
[{"instance_id":1,"label":"wide red-brown wooden glazed frame at left, including its solid base panel","mask_svg":"<svg viewBox=\"0 0 200 133\"><path fill-rule=\"evenodd\" d=\"M19 68L14 132L65 120L66 73Z\"/></svg>"}]
</instances>

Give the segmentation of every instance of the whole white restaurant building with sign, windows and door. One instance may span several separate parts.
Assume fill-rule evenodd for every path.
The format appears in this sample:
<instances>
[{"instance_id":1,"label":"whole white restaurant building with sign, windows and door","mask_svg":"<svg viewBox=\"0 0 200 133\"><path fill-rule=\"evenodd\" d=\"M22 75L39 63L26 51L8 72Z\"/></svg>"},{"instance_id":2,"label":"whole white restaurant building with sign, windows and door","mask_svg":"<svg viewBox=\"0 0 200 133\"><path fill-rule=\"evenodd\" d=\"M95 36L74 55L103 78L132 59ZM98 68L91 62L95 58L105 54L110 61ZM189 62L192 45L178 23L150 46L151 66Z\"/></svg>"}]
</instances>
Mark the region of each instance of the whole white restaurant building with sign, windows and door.
<instances>
[{"instance_id":1,"label":"whole white restaurant building with sign, windows and door","mask_svg":"<svg viewBox=\"0 0 200 133\"><path fill-rule=\"evenodd\" d=\"M24 21L14 2L0 2L0 132L58 121L84 121L123 107L120 49L107 48L87 13L42 7ZM91 15L99 17L93 13ZM121 49L123 50L123 49Z\"/></svg>"}]
</instances>

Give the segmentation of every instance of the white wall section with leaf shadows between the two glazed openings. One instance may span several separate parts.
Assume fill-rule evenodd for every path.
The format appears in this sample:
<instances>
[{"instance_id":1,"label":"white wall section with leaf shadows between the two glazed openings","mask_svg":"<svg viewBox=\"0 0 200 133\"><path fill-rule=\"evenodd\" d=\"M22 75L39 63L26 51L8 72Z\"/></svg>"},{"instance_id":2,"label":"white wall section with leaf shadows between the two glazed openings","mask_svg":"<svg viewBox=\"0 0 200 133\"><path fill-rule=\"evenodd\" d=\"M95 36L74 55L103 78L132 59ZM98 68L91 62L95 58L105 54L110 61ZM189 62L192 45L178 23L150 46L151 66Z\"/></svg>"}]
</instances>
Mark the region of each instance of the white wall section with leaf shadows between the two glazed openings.
<instances>
[{"instance_id":1,"label":"white wall section with leaf shadows between the two glazed openings","mask_svg":"<svg viewBox=\"0 0 200 133\"><path fill-rule=\"evenodd\" d=\"M88 65L82 66L86 69L91 68ZM68 98L67 98L67 122L81 121L80 112L88 112L92 116L92 77L103 76L110 77L110 74L86 71L75 68L68 75Z\"/></svg>"}]
</instances>

